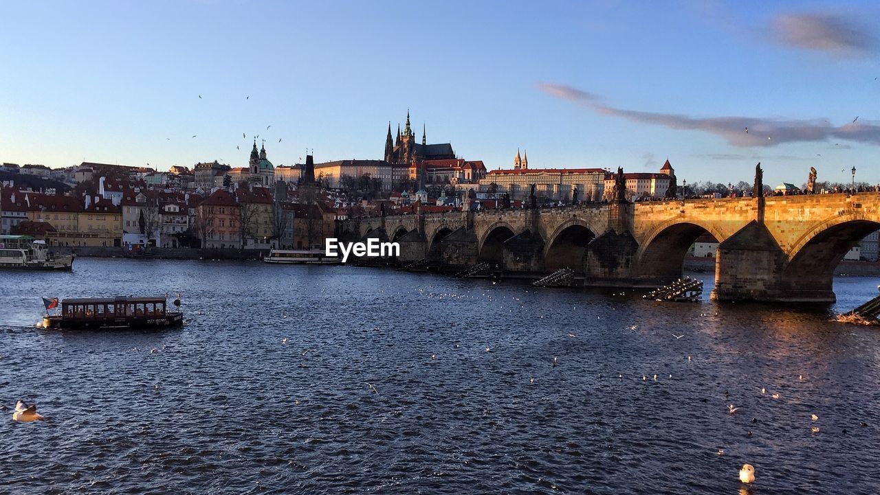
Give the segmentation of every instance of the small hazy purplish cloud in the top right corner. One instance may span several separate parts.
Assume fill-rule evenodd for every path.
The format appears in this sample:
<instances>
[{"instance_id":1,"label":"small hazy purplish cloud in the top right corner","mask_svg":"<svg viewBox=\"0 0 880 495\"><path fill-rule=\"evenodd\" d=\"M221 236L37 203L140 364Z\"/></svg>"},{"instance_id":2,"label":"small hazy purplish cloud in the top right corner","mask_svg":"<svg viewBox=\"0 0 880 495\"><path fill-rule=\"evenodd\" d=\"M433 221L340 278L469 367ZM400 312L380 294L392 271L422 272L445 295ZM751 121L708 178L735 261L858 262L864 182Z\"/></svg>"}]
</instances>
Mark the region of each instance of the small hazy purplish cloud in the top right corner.
<instances>
[{"instance_id":1,"label":"small hazy purplish cloud in the top right corner","mask_svg":"<svg viewBox=\"0 0 880 495\"><path fill-rule=\"evenodd\" d=\"M780 14L770 27L774 40L790 47L851 57L876 51L876 40L867 27L831 14Z\"/></svg>"}]
</instances>

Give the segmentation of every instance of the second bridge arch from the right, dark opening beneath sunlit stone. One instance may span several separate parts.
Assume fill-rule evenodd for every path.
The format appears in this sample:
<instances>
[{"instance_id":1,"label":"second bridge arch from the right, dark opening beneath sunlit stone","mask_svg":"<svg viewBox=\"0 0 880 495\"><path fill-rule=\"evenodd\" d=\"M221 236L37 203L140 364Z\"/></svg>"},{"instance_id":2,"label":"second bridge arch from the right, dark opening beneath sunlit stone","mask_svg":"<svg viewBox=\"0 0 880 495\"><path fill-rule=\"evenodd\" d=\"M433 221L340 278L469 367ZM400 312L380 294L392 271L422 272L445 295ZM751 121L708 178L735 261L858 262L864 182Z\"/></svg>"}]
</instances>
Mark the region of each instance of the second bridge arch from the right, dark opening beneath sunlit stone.
<instances>
[{"instance_id":1,"label":"second bridge arch from the right, dark opening beneath sunlit stone","mask_svg":"<svg viewBox=\"0 0 880 495\"><path fill-rule=\"evenodd\" d=\"M711 224L700 221L674 219L661 223L651 230L635 253L639 275L656 280L680 278L687 250L704 234L713 237L716 243L726 238Z\"/></svg>"}]
</instances>

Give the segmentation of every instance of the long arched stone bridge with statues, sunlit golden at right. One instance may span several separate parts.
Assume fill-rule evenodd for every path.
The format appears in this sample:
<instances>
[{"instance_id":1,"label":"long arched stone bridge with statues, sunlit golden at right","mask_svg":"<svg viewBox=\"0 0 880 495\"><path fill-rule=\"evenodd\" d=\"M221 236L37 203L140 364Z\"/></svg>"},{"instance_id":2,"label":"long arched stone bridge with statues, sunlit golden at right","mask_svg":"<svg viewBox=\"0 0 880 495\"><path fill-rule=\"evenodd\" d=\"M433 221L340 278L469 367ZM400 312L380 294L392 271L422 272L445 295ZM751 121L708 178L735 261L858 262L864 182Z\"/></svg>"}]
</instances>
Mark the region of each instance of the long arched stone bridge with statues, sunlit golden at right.
<instances>
[{"instance_id":1,"label":"long arched stone bridge with statues, sunlit golden at right","mask_svg":"<svg viewBox=\"0 0 880 495\"><path fill-rule=\"evenodd\" d=\"M718 300L833 302L840 259L880 229L880 193L665 200L455 211L341 222L344 240L400 242L398 262L450 270L481 261L539 276L568 266L585 285L653 287L678 279L705 232L720 243Z\"/></svg>"}]
</instances>

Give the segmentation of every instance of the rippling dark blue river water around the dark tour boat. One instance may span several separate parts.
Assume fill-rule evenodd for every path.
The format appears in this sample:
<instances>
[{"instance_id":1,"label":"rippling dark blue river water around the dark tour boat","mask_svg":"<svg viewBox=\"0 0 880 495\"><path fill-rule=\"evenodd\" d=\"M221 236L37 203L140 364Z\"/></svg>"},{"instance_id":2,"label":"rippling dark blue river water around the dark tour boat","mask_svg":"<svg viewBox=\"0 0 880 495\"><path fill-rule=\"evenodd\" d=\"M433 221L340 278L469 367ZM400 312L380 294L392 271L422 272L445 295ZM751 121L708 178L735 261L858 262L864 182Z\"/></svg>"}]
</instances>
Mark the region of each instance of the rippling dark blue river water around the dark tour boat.
<instances>
[{"instance_id":1,"label":"rippling dark blue river water around the dark tour boat","mask_svg":"<svg viewBox=\"0 0 880 495\"><path fill-rule=\"evenodd\" d=\"M880 492L880 331L829 321L878 280L808 309L709 302L698 276L702 303L348 266L3 272L0 404L47 420L0 421L0 492ZM180 330L33 326L41 295L166 292Z\"/></svg>"}]
</instances>

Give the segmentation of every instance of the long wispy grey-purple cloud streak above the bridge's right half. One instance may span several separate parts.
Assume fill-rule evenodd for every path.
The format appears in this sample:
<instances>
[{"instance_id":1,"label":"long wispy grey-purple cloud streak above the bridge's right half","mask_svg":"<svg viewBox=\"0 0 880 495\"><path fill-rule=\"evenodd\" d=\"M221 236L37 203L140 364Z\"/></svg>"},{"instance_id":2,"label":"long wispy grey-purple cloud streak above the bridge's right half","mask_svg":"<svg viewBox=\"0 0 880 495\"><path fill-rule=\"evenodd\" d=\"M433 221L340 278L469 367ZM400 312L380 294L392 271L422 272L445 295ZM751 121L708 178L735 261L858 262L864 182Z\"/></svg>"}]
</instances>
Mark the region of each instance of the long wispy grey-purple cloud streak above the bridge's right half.
<instances>
[{"instance_id":1,"label":"long wispy grey-purple cloud streak above the bridge's right half","mask_svg":"<svg viewBox=\"0 0 880 495\"><path fill-rule=\"evenodd\" d=\"M880 124L869 120L835 127L821 118L795 120L740 116L691 117L678 113L643 112L605 105L599 102L598 96L563 84L545 83L538 87L540 91L551 96L585 104L598 113L644 124L708 132L720 135L738 147L766 147L783 142L822 142L832 137L880 145Z\"/></svg>"}]
</instances>

